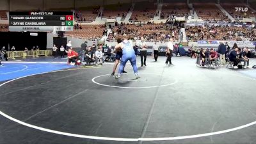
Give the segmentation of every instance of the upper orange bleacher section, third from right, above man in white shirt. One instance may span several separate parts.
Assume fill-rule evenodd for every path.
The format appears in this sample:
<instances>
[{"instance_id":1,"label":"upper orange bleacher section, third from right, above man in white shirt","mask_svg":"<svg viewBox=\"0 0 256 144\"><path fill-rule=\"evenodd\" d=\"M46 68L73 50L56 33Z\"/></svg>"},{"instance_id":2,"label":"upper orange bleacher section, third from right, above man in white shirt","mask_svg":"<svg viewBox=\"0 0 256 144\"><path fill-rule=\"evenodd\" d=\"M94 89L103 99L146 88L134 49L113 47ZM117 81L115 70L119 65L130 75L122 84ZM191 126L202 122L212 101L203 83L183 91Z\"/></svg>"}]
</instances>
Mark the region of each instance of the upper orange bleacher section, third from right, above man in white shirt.
<instances>
[{"instance_id":1,"label":"upper orange bleacher section, third from right, above man in white shirt","mask_svg":"<svg viewBox=\"0 0 256 144\"><path fill-rule=\"evenodd\" d=\"M166 19L170 15L184 17L188 15L189 8L186 3L164 3L161 13L161 19Z\"/></svg>"}]
</instances>

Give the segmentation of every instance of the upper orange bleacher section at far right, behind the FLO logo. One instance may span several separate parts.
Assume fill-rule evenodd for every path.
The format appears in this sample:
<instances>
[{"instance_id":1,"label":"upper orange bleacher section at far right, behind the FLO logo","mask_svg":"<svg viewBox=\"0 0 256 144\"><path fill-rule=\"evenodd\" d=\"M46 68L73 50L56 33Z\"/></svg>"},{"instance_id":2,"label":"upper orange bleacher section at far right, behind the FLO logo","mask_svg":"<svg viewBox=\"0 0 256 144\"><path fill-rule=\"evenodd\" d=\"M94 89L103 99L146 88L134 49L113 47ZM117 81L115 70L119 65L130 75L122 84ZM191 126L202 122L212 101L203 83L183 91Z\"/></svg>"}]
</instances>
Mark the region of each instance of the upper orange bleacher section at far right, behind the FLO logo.
<instances>
[{"instance_id":1,"label":"upper orange bleacher section at far right, behind the FLO logo","mask_svg":"<svg viewBox=\"0 0 256 144\"><path fill-rule=\"evenodd\" d=\"M241 4L237 3L221 3L221 6L235 19L243 17L255 17L256 14L248 8L248 12L236 12L235 7L241 8ZM245 6L242 6L245 8Z\"/></svg>"}]
</instances>

